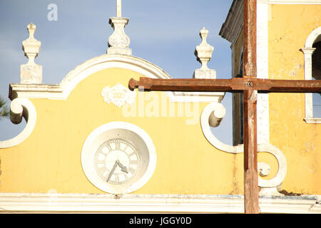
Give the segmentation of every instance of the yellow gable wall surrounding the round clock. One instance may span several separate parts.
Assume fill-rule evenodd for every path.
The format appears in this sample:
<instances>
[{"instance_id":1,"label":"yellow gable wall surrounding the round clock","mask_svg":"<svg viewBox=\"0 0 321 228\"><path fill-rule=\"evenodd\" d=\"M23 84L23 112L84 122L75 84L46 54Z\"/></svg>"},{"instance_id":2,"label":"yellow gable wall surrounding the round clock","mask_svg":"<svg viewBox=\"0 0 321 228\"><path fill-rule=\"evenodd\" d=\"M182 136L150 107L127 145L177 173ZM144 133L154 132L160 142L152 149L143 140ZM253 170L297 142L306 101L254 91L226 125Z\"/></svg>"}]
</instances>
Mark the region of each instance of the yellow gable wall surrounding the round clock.
<instances>
[{"instance_id":1,"label":"yellow gable wall surrounding the round clock","mask_svg":"<svg viewBox=\"0 0 321 228\"><path fill-rule=\"evenodd\" d=\"M103 88L117 83L126 86L130 78L140 76L120 68L106 69L81 81L66 100L31 99L37 111L36 127L20 145L0 150L0 192L104 193L84 175L81 149L94 129L124 121L143 128L157 153L151 180L134 194L240 194L242 159L235 163L237 155L216 150L201 130L200 113L207 103L196 106L196 123L187 125L192 118L185 115L126 117L123 108L103 101ZM148 95L155 100L161 92ZM182 104L175 103L176 112ZM151 100L146 98L148 107Z\"/></svg>"}]
</instances>

